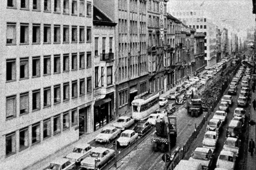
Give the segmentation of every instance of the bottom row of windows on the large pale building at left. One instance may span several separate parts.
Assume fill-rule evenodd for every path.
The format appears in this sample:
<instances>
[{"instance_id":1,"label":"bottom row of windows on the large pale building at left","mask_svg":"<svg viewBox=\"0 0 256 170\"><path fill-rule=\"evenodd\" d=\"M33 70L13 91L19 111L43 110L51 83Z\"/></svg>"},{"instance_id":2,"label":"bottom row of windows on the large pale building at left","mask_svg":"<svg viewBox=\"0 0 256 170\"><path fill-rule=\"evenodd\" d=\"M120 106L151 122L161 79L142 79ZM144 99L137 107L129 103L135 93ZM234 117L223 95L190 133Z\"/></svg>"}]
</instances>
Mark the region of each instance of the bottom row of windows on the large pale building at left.
<instances>
[{"instance_id":1,"label":"bottom row of windows on the large pale building at left","mask_svg":"<svg viewBox=\"0 0 256 170\"><path fill-rule=\"evenodd\" d=\"M40 143L55 134L65 131L78 124L77 108L29 125L5 135L5 155L13 155L19 151ZM42 127L42 128L41 128ZM19 139L16 140L16 137ZM16 142L17 141L17 142Z\"/></svg>"}]
</instances>

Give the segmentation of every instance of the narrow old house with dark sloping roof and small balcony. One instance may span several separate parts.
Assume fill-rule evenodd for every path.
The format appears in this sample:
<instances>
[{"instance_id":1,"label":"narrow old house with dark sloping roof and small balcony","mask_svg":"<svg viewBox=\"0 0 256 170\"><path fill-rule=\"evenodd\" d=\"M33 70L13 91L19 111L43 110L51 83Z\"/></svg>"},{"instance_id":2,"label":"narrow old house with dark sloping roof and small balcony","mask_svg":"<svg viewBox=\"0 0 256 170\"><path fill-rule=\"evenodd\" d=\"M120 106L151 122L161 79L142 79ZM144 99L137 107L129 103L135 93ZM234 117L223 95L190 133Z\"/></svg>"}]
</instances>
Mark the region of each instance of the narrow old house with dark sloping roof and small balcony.
<instances>
[{"instance_id":1,"label":"narrow old house with dark sloping roof and small balcony","mask_svg":"<svg viewBox=\"0 0 256 170\"><path fill-rule=\"evenodd\" d=\"M116 23L93 6L93 130L114 118L115 79L114 60Z\"/></svg>"}]
</instances>

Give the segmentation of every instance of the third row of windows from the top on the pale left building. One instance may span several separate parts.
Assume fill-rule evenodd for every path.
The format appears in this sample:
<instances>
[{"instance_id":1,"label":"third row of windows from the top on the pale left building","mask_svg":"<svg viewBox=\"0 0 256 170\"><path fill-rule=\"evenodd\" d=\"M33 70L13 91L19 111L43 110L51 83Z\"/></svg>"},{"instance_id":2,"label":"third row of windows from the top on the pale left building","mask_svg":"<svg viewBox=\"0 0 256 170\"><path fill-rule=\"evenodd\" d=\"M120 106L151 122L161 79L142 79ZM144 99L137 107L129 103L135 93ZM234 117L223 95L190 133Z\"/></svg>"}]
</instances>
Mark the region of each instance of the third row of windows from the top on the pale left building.
<instances>
[{"instance_id":1,"label":"third row of windows from the top on the pale left building","mask_svg":"<svg viewBox=\"0 0 256 170\"><path fill-rule=\"evenodd\" d=\"M62 72L68 72L70 70L84 69L86 67L92 67L92 53L66 53L63 55L45 55L43 57L36 56L29 59L29 57L19 58L19 63L16 64L16 59L6 60L6 81L16 81L16 70L19 67L19 80L28 79L29 77L40 77L41 66L43 70L43 76L50 74L57 74ZM43 64L41 64L43 62ZM53 68L52 68L53 67ZM31 69L31 70L30 70Z\"/></svg>"}]
</instances>

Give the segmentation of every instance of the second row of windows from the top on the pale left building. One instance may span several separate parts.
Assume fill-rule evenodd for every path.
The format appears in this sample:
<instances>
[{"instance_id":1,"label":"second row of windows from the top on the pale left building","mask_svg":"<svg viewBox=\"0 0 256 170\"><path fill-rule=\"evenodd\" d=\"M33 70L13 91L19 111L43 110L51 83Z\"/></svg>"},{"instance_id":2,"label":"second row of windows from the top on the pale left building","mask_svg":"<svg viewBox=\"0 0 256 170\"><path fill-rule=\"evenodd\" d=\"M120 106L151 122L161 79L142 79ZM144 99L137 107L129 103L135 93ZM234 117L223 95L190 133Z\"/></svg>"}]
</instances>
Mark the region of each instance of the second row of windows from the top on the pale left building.
<instances>
[{"instance_id":1,"label":"second row of windows from the top on the pale left building","mask_svg":"<svg viewBox=\"0 0 256 170\"><path fill-rule=\"evenodd\" d=\"M29 24L20 23L19 29L16 23L7 22L6 44L16 45L16 38L19 36L19 44L29 44L29 35L31 35L32 44L49 43L84 43L85 27L84 26L67 26L67 25L51 25L51 24ZM29 27L31 30L29 30ZM43 29L41 31L41 29ZM17 35L17 32L19 35ZM42 32L42 33L41 33ZM42 40L41 40L42 39ZM86 42L92 41L92 28L86 27Z\"/></svg>"}]
</instances>

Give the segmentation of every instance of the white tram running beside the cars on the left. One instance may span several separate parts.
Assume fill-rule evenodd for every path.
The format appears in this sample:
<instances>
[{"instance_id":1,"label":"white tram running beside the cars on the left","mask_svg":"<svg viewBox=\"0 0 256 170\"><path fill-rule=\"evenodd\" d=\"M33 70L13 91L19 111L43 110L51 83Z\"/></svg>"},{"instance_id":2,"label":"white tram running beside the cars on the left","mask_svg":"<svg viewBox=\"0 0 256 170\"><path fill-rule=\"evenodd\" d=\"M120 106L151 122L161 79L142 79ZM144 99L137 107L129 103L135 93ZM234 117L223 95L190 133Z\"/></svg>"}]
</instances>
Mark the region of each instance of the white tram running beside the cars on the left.
<instances>
[{"instance_id":1,"label":"white tram running beside the cars on the left","mask_svg":"<svg viewBox=\"0 0 256 170\"><path fill-rule=\"evenodd\" d=\"M159 93L142 93L135 96L131 102L132 118L135 120L145 120L151 113L156 112L159 106Z\"/></svg>"}]
</instances>

